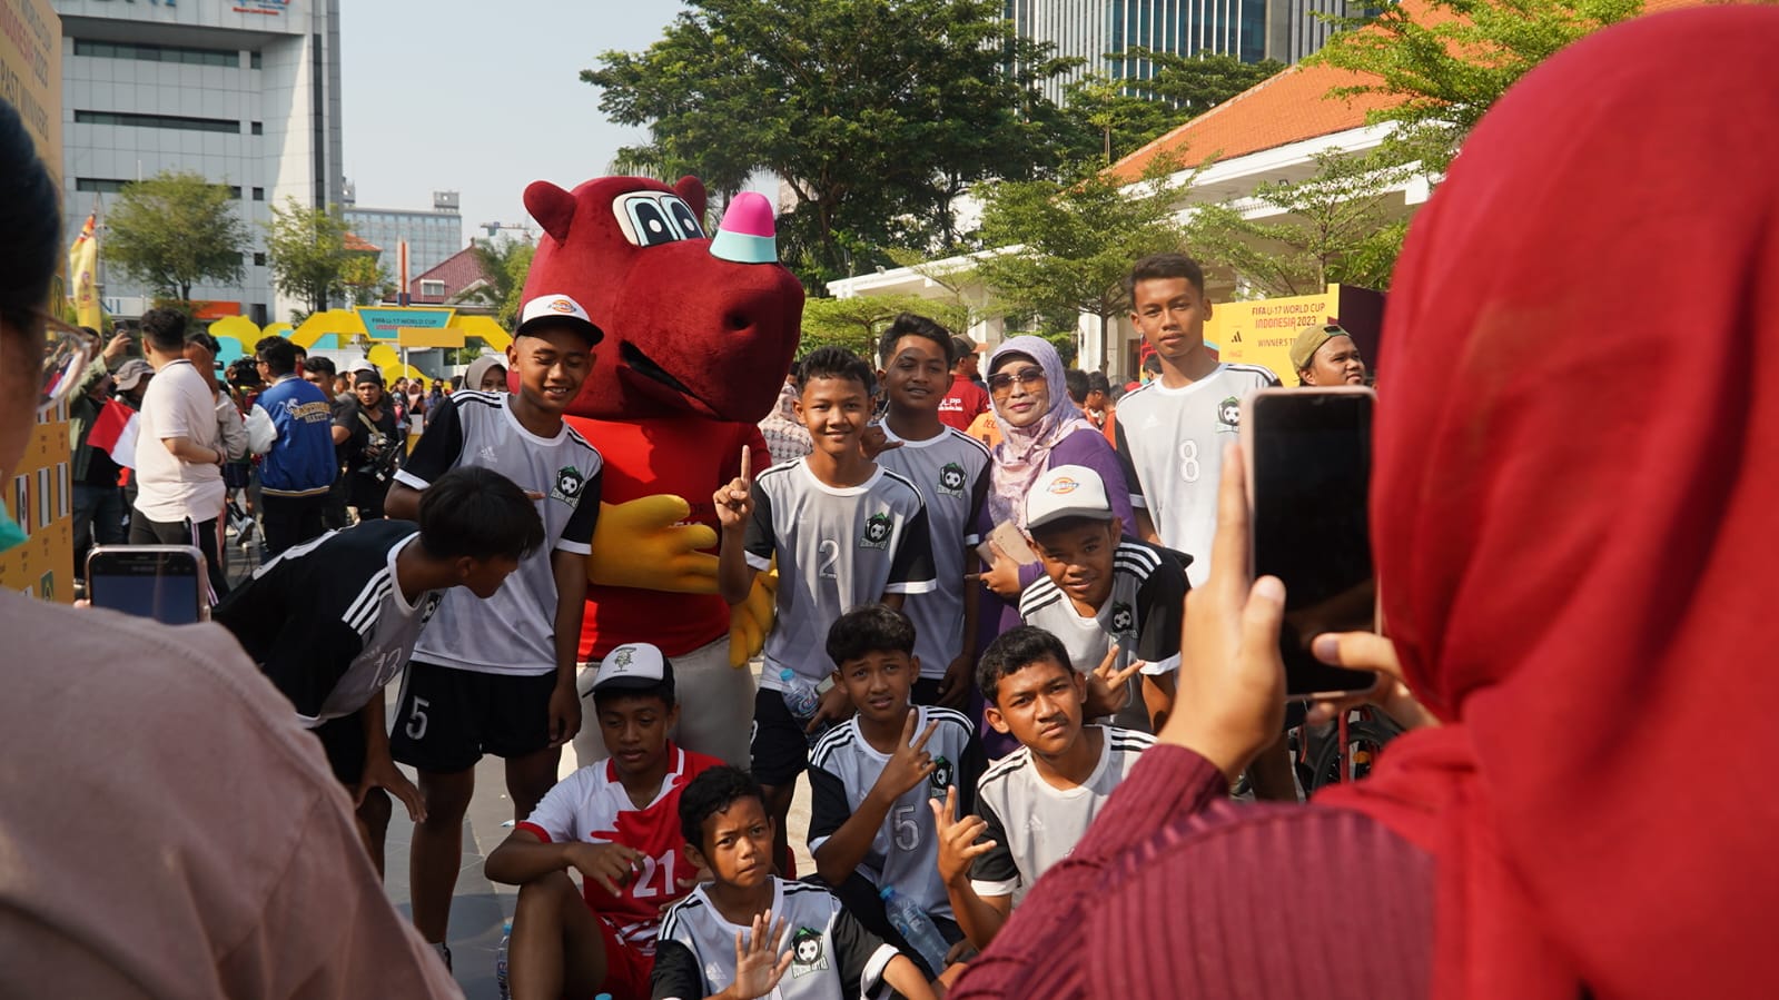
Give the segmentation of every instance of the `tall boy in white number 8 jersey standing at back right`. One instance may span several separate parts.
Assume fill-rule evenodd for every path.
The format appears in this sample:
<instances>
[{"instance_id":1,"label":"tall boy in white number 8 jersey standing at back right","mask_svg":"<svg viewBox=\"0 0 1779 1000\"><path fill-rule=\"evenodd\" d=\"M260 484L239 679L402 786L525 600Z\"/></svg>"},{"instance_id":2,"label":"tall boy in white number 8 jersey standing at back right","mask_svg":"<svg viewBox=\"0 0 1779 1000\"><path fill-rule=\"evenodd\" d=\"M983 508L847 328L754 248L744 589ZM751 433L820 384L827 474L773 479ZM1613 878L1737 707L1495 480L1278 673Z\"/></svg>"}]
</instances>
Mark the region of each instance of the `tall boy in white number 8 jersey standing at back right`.
<instances>
[{"instance_id":1,"label":"tall boy in white number 8 jersey standing at back right","mask_svg":"<svg viewBox=\"0 0 1779 1000\"><path fill-rule=\"evenodd\" d=\"M1146 256L1124 279L1130 319L1155 347L1160 375L1117 404L1117 452L1144 541L1192 557L1192 585L1210 573L1224 443L1242 423L1242 397L1277 386L1254 365L1222 365L1204 347L1211 302L1187 254Z\"/></svg>"}]
</instances>

